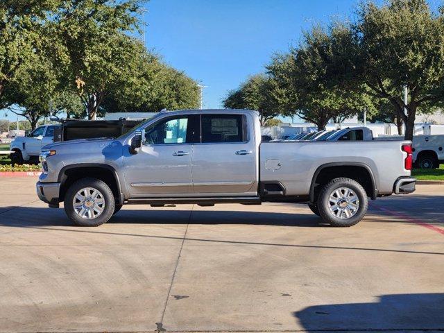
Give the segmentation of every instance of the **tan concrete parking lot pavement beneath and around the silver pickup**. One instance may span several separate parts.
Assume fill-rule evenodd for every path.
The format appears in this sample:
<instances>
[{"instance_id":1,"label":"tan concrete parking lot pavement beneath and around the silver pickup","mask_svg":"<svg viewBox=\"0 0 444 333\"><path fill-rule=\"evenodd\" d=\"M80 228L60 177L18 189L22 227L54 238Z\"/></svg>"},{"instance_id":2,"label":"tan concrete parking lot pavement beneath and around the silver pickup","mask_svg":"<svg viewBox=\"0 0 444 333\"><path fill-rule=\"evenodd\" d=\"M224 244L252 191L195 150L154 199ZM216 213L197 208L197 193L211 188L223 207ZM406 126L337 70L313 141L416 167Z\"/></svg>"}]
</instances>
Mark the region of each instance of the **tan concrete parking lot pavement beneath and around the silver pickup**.
<instances>
[{"instance_id":1,"label":"tan concrete parking lot pavement beneath and around the silver pickup","mask_svg":"<svg viewBox=\"0 0 444 333\"><path fill-rule=\"evenodd\" d=\"M0 178L0 332L444 330L444 186L330 228L305 205L124 206L98 228Z\"/></svg>"}]
</instances>

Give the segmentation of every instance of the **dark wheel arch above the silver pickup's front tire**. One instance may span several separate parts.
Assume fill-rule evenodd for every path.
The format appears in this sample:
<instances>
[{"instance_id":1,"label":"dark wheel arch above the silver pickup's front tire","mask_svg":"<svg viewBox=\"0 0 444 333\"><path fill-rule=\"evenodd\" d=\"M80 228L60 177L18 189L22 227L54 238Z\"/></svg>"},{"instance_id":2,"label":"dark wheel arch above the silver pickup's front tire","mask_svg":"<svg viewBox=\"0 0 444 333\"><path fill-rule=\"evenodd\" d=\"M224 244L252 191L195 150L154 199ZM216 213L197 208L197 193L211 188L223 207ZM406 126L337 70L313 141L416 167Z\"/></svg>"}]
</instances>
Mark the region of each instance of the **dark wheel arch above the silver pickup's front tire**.
<instances>
[{"instance_id":1,"label":"dark wheel arch above the silver pickup's front tire","mask_svg":"<svg viewBox=\"0 0 444 333\"><path fill-rule=\"evenodd\" d=\"M59 200L63 200L69 186L81 178L103 180L111 188L116 203L123 204L124 198L116 169L109 164L102 163L69 164L60 169L58 174L58 182L60 182Z\"/></svg>"}]
</instances>

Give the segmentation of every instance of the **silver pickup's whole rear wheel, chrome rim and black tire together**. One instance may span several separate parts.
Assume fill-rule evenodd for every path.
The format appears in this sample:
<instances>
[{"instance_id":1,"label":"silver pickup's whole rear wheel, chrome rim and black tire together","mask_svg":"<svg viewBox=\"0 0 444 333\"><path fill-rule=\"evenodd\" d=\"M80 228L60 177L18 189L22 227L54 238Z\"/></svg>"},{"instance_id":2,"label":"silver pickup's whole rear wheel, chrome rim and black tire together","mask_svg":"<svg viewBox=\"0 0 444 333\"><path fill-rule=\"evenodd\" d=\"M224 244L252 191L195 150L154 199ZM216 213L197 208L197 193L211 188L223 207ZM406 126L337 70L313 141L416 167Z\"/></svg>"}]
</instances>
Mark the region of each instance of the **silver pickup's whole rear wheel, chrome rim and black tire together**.
<instances>
[{"instance_id":1,"label":"silver pickup's whole rear wheel, chrome rim and black tire together","mask_svg":"<svg viewBox=\"0 0 444 333\"><path fill-rule=\"evenodd\" d=\"M330 225L351 227L364 218L368 198L356 180L335 178L319 192L317 207L322 219Z\"/></svg>"}]
</instances>

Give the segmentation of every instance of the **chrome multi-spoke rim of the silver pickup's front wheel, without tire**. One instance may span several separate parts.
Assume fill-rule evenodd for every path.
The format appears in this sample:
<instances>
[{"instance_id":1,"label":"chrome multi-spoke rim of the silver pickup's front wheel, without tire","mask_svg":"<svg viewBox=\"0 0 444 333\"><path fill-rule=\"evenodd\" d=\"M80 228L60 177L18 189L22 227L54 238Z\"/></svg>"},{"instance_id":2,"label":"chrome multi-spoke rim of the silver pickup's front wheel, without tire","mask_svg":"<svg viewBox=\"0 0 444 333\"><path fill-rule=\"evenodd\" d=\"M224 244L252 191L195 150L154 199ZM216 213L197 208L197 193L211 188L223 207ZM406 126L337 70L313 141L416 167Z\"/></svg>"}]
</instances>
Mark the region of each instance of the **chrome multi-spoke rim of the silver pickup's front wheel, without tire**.
<instances>
[{"instance_id":1,"label":"chrome multi-spoke rim of the silver pickup's front wheel, without tire","mask_svg":"<svg viewBox=\"0 0 444 333\"><path fill-rule=\"evenodd\" d=\"M82 219L96 219L105 209L105 198L98 189L85 187L76 193L72 206Z\"/></svg>"}]
</instances>

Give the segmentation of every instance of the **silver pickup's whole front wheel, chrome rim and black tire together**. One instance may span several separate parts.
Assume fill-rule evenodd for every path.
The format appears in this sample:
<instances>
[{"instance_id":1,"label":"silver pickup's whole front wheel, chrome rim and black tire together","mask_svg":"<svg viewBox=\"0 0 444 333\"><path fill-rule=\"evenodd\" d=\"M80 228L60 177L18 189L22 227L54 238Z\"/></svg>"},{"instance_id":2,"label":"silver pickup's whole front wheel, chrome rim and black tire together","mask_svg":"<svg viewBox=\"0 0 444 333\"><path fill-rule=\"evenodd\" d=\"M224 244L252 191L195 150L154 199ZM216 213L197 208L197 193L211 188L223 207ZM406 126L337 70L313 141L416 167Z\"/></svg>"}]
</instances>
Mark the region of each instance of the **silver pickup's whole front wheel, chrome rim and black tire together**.
<instances>
[{"instance_id":1,"label":"silver pickup's whole front wheel, chrome rim and black tire together","mask_svg":"<svg viewBox=\"0 0 444 333\"><path fill-rule=\"evenodd\" d=\"M97 227L114 214L114 195L108 185L96 178L74 182L65 194L65 212L83 227Z\"/></svg>"}]
</instances>

